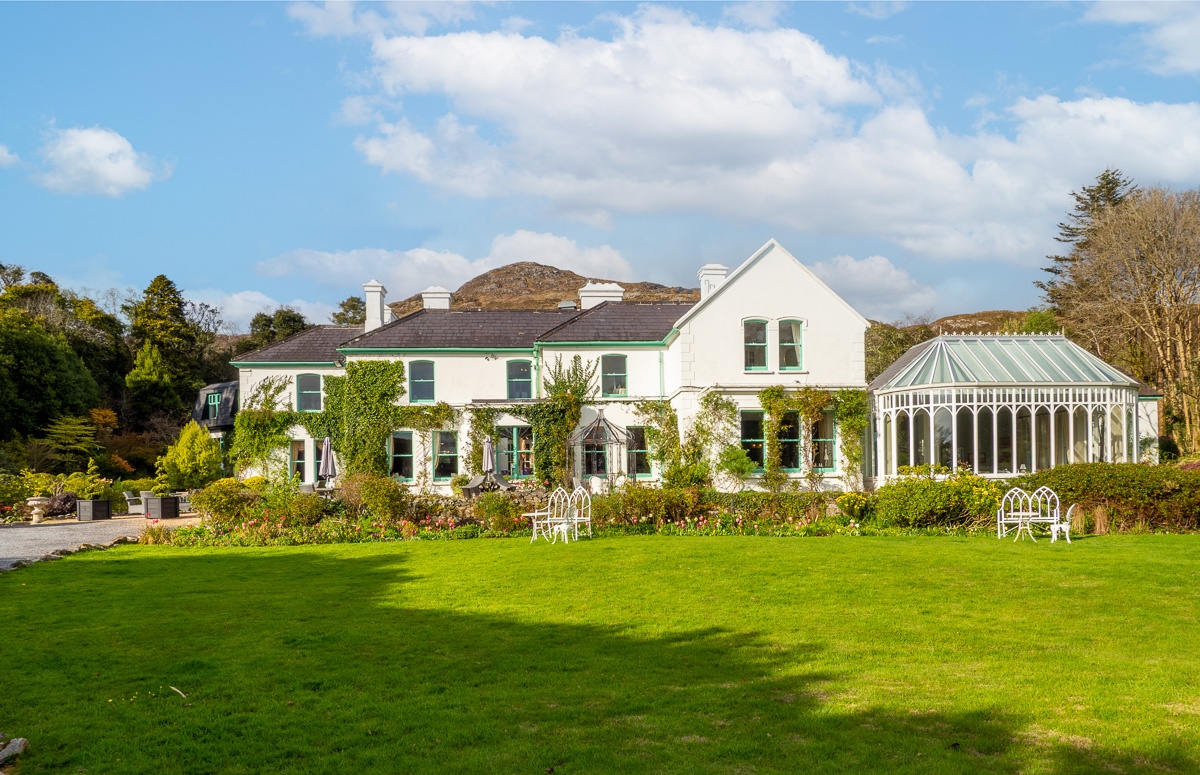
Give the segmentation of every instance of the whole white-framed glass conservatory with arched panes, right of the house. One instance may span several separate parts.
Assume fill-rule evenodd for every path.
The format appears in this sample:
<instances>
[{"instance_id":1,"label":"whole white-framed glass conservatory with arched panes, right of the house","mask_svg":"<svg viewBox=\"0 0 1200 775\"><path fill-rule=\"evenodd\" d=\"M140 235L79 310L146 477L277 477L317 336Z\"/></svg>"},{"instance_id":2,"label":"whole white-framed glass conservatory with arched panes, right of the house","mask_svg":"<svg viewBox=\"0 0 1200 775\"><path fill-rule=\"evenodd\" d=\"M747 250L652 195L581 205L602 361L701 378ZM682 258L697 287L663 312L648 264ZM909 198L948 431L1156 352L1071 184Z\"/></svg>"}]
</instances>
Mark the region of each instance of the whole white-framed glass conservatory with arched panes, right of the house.
<instances>
[{"instance_id":1,"label":"whole white-framed glass conservatory with arched panes, right of the house","mask_svg":"<svg viewBox=\"0 0 1200 775\"><path fill-rule=\"evenodd\" d=\"M1139 388L1066 336L938 336L871 383L868 470L887 479L940 464L1012 476L1136 461Z\"/></svg>"}]
</instances>

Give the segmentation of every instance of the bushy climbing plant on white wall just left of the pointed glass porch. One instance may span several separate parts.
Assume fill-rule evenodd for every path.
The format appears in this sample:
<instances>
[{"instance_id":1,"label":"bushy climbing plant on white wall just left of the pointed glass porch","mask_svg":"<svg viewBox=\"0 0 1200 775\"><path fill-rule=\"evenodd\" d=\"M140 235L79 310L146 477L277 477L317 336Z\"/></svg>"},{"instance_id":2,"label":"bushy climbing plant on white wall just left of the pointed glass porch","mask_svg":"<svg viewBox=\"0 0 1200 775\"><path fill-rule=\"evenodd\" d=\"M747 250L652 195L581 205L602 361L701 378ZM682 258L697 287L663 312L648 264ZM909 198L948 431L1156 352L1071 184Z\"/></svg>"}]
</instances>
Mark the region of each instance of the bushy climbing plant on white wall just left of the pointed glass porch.
<instances>
[{"instance_id":1,"label":"bushy climbing plant on white wall just left of the pointed glass porch","mask_svg":"<svg viewBox=\"0 0 1200 775\"><path fill-rule=\"evenodd\" d=\"M557 483L566 481L566 443L583 416L583 407L595 401L599 365L599 361L584 362L578 355L569 365L557 358L542 378L545 399L508 410L533 427L538 439L533 467L538 479Z\"/></svg>"}]
</instances>

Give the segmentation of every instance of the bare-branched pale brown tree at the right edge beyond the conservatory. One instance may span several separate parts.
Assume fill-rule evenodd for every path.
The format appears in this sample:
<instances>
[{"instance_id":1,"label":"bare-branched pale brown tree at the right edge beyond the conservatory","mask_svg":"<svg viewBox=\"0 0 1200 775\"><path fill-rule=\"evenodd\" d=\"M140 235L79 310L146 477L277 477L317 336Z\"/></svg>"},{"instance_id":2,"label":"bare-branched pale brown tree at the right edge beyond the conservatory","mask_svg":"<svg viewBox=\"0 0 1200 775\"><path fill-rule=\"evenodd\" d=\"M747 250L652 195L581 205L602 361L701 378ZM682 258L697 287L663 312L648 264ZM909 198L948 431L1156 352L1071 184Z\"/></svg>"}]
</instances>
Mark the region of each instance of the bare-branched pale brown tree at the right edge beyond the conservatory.
<instances>
[{"instance_id":1,"label":"bare-branched pale brown tree at the right edge beyond the conservatory","mask_svg":"<svg viewBox=\"0 0 1200 775\"><path fill-rule=\"evenodd\" d=\"M1150 188L1097 212L1058 286L1068 328L1158 385L1184 451L1200 449L1200 190Z\"/></svg>"}]
</instances>

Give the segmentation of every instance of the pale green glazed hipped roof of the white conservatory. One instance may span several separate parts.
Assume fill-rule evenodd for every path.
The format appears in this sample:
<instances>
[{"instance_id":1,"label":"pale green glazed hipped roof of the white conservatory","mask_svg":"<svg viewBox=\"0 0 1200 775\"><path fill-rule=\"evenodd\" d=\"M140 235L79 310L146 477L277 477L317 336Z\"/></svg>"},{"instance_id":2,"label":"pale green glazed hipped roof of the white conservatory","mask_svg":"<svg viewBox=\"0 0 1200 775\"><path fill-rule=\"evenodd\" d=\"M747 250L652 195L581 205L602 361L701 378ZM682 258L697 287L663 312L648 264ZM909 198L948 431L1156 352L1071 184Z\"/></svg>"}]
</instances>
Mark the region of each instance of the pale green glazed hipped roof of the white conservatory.
<instances>
[{"instance_id":1,"label":"pale green glazed hipped roof of the white conservatory","mask_svg":"<svg viewBox=\"0 0 1200 775\"><path fill-rule=\"evenodd\" d=\"M871 383L871 390L960 384L1138 386L1066 336L959 335L913 347Z\"/></svg>"}]
</instances>

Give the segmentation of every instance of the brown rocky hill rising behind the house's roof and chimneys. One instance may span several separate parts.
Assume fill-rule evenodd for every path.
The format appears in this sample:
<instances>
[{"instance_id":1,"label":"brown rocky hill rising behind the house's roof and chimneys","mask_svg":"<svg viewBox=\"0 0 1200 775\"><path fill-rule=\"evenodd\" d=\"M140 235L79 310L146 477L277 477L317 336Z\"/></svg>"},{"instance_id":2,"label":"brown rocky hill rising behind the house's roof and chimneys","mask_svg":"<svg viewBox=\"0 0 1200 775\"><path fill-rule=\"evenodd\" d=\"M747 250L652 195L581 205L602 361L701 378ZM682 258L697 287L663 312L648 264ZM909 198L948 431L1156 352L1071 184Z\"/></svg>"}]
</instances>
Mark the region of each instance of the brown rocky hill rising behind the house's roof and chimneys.
<instances>
[{"instance_id":1,"label":"brown rocky hill rising behind the house's roof and chimneys","mask_svg":"<svg viewBox=\"0 0 1200 775\"><path fill-rule=\"evenodd\" d=\"M580 300L580 288L588 281L618 282L584 277L565 269L520 262L484 272L455 290L451 308L553 310L559 302ZM625 301L700 301L698 288L668 288L658 283L618 282L625 289ZM390 305L396 316L421 308L420 294Z\"/></svg>"}]
</instances>

